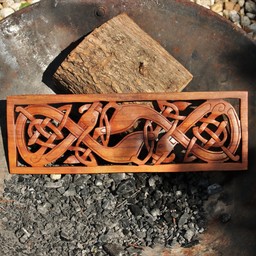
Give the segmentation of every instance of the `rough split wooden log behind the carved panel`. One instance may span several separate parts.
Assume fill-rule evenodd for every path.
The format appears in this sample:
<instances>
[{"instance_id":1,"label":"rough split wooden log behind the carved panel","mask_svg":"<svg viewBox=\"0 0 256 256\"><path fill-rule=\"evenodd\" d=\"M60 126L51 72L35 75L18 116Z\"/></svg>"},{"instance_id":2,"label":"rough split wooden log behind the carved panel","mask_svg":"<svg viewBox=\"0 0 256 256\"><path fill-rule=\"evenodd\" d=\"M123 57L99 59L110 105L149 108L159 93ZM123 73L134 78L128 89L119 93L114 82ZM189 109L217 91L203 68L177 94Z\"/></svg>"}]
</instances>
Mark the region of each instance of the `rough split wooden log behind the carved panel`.
<instances>
[{"instance_id":1,"label":"rough split wooden log behind the carved panel","mask_svg":"<svg viewBox=\"0 0 256 256\"><path fill-rule=\"evenodd\" d=\"M192 75L126 14L91 34L54 74L71 93L179 92Z\"/></svg>"}]
</instances>

